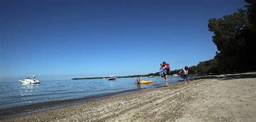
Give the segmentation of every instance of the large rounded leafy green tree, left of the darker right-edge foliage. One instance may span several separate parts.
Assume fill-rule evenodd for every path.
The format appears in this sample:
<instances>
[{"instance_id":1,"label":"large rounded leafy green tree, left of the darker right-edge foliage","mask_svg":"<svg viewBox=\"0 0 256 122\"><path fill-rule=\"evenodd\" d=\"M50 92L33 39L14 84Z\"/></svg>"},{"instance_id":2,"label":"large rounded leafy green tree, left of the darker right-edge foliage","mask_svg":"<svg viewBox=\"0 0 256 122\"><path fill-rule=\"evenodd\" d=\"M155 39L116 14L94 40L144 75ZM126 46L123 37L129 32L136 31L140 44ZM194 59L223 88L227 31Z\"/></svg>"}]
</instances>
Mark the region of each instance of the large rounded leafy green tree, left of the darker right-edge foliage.
<instances>
[{"instance_id":1,"label":"large rounded leafy green tree, left of the darker right-edge foliage","mask_svg":"<svg viewBox=\"0 0 256 122\"><path fill-rule=\"evenodd\" d=\"M233 15L223 18L209 19L208 28L213 32L214 44L217 46L216 58L222 71L236 71L242 69L245 62L242 59L243 49L246 47L244 30L248 26L246 10L238 9Z\"/></svg>"}]
</instances>

